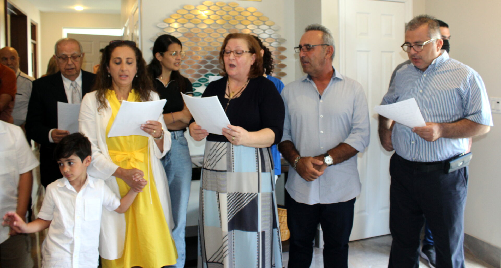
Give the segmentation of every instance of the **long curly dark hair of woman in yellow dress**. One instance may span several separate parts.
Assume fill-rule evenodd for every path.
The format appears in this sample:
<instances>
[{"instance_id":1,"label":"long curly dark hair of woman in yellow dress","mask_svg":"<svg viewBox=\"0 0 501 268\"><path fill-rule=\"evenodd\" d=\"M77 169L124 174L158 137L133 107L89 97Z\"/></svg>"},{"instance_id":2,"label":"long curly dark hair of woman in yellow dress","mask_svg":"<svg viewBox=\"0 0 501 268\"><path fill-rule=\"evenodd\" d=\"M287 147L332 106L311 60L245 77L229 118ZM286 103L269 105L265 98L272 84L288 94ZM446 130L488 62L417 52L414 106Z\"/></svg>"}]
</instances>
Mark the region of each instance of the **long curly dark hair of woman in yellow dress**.
<instances>
[{"instance_id":1,"label":"long curly dark hair of woman in yellow dress","mask_svg":"<svg viewBox=\"0 0 501 268\"><path fill-rule=\"evenodd\" d=\"M136 55L137 73L136 77L132 80L132 88L139 95L139 99L137 101L150 101L150 92L155 91L151 76L146 69L146 62L143 60L143 54L141 51L136 46L129 44L129 42L111 43L104 48L101 55L100 68L96 74L94 86L92 87L92 91L97 91L96 99L99 103L98 111L107 107L106 92L108 89L113 89L112 78L109 76L108 68L110 67L111 53L118 47L129 47Z\"/></svg>"}]
</instances>

